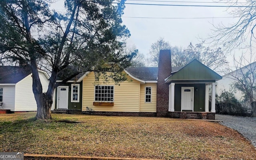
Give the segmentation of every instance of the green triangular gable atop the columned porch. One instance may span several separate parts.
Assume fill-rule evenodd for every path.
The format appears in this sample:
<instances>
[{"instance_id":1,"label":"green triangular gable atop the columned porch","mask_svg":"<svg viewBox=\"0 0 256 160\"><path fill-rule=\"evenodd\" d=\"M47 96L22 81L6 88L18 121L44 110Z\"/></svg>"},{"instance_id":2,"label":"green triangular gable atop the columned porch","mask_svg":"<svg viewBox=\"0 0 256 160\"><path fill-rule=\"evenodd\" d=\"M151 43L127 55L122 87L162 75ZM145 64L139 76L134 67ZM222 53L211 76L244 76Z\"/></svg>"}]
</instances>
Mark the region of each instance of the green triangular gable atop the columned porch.
<instances>
[{"instance_id":1,"label":"green triangular gable atop the columned porch","mask_svg":"<svg viewBox=\"0 0 256 160\"><path fill-rule=\"evenodd\" d=\"M185 65L179 71L173 73L166 79L166 83L170 83L173 80L219 80L222 77L212 71L212 69L206 67L200 61L194 59L187 65Z\"/></svg>"}]
</instances>

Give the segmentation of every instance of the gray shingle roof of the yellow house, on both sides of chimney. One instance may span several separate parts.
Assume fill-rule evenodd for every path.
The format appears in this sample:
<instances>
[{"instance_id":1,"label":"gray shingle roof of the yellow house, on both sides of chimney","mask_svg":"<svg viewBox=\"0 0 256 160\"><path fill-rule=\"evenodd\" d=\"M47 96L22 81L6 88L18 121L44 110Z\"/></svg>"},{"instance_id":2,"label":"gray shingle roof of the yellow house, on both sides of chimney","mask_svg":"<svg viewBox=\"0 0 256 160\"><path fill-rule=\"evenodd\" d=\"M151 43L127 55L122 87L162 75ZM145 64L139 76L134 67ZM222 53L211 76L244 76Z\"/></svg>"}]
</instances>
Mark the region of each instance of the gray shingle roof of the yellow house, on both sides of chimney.
<instances>
[{"instance_id":1,"label":"gray shingle roof of the yellow house, on both sides of chimney","mask_svg":"<svg viewBox=\"0 0 256 160\"><path fill-rule=\"evenodd\" d=\"M180 70L182 67L172 67L172 72ZM143 81L156 81L158 67L130 67L126 68L131 75Z\"/></svg>"}]
</instances>

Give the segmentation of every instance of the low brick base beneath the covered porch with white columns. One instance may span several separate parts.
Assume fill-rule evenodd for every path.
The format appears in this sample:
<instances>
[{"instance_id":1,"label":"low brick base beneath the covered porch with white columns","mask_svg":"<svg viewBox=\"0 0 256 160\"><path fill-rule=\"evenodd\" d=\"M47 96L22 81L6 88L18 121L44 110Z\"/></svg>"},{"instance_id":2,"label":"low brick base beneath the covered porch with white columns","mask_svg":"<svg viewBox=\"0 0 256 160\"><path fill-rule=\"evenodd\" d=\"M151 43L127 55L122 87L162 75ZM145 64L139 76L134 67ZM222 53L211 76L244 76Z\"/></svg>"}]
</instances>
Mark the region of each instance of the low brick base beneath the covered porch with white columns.
<instances>
[{"instance_id":1,"label":"low brick base beneath the covered porch with white columns","mask_svg":"<svg viewBox=\"0 0 256 160\"><path fill-rule=\"evenodd\" d=\"M168 117L178 119L208 119L215 120L212 112L168 112Z\"/></svg>"}]
</instances>

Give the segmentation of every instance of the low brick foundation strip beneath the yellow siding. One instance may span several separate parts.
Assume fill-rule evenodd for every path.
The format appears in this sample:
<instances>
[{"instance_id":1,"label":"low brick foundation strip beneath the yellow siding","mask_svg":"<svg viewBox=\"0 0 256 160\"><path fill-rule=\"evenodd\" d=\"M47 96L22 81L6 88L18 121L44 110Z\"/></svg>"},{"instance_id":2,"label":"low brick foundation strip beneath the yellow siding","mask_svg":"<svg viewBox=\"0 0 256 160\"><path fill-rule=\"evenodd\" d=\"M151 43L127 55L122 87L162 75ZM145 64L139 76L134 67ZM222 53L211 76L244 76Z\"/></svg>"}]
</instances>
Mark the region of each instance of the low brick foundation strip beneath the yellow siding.
<instances>
[{"instance_id":1,"label":"low brick foundation strip beneath the yellow siding","mask_svg":"<svg viewBox=\"0 0 256 160\"><path fill-rule=\"evenodd\" d=\"M156 117L154 112L100 112L100 111L82 111L82 114L104 115L104 116L134 116L134 117Z\"/></svg>"}]
</instances>

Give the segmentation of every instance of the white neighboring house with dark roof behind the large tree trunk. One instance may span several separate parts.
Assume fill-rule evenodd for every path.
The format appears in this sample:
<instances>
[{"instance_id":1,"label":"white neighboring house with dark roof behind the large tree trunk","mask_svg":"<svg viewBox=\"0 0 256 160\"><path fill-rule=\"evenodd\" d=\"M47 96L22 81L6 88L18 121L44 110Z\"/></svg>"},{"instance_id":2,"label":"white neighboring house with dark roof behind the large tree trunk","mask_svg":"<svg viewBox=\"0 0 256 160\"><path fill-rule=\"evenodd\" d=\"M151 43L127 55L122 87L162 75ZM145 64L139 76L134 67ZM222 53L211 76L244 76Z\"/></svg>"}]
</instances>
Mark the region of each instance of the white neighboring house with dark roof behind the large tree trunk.
<instances>
[{"instance_id":1,"label":"white neighboring house with dark roof behind the large tree trunk","mask_svg":"<svg viewBox=\"0 0 256 160\"><path fill-rule=\"evenodd\" d=\"M38 71L43 92L46 92L49 75L45 71ZM10 109L15 112L37 110L31 75L28 67L0 66L0 103L2 103L0 109ZM52 104L52 110L54 105Z\"/></svg>"}]
</instances>

